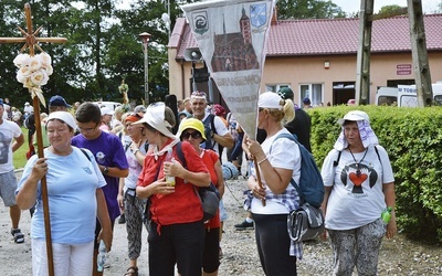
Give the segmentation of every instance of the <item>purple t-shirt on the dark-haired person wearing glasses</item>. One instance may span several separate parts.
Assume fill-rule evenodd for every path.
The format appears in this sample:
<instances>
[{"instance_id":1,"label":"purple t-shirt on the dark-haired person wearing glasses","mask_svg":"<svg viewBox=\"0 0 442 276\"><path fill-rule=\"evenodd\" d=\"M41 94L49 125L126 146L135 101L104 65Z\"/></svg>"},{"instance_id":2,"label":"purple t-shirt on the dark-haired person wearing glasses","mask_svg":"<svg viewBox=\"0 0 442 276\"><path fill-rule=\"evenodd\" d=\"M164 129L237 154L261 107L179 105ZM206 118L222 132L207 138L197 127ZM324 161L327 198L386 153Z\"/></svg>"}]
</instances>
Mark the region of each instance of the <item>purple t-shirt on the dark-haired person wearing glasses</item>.
<instances>
[{"instance_id":1,"label":"purple t-shirt on the dark-haired person wearing glasses","mask_svg":"<svg viewBox=\"0 0 442 276\"><path fill-rule=\"evenodd\" d=\"M72 138L72 145L91 150L98 164L117 167L122 170L129 168L122 141L115 135L102 131L99 137L94 140L87 140L83 135L77 135ZM109 176L104 176L104 178L107 184L102 189L110 221L114 221L120 214L117 201L119 179Z\"/></svg>"}]
</instances>

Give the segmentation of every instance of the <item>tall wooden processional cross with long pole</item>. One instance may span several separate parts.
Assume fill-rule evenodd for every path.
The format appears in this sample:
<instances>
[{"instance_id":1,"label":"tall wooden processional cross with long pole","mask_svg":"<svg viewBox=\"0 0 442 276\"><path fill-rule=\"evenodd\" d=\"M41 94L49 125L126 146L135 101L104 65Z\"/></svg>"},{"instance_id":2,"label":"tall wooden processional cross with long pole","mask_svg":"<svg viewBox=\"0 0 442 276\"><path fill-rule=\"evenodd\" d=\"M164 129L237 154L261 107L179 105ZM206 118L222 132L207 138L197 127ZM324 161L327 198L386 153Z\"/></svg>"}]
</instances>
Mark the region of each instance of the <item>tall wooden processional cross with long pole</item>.
<instances>
[{"instance_id":1,"label":"tall wooden processional cross with long pole","mask_svg":"<svg viewBox=\"0 0 442 276\"><path fill-rule=\"evenodd\" d=\"M27 49L29 49L29 55L34 56L35 54L34 46L39 49L41 52L43 52L41 46L38 44L39 42L65 43L67 41L67 39L65 38L36 38L36 35L40 33L41 26L36 29L35 32L32 32L31 6L29 3L24 4L24 15L27 20L28 32L18 26L20 32L23 34L23 38L0 38L0 43L24 42L24 45L21 47L20 52L23 52ZM31 93L31 95L32 95L31 97L33 97L38 155L41 158L44 157L44 153L43 153L41 119L40 119L40 103L39 103L39 97L35 97L33 93ZM43 98L43 104L44 104L44 98ZM45 177L41 179L41 189L42 189L43 214L44 214L44 230L46 240L48 269L49 269L49 275L53 276L54 258L52 252L51 217L49 212L48 185Z\"/></svg>"}]
</instances>

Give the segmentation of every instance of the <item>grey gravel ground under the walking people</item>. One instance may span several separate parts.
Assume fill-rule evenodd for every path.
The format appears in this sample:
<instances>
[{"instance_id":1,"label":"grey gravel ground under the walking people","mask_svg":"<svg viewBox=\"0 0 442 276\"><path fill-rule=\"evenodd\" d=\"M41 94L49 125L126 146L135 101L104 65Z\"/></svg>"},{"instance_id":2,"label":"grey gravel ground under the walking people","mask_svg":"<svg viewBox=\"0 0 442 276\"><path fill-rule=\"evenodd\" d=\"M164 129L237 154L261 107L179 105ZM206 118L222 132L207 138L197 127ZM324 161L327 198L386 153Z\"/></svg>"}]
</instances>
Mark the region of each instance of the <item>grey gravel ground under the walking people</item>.
<instances>
[{"instance_id":1,"label":"grey gravel ground under the walking people","mask_svg":"<svg viewBox=\"0 0 442 276\"><path fill-rule=\"evenodd\" d=\"M242 191L244 180L227 182L224 205L229 220L224 223L221 242L223 258L219 275L263 275L256 253L253 231L235 231L233 225L244 219ZM22 213L20 227L25 234L23 244L14 244L10 234L9 210L0 204L0 270L1 275L31 275L30 221ZM147 232L144 231L139 275L148 275ZM442 275L442 248L411 242L397 235L385 240L379 256L379 275ZM327 242L311 241L304 244L304 258L298 262L298 275L330 275L332 251ZM115 224L114 244L109 253L110 267L105 275L124 275L128 267L127 241L124 224ZM356 274L354 274L356 275Z\"/></svg>"}]
</instances>

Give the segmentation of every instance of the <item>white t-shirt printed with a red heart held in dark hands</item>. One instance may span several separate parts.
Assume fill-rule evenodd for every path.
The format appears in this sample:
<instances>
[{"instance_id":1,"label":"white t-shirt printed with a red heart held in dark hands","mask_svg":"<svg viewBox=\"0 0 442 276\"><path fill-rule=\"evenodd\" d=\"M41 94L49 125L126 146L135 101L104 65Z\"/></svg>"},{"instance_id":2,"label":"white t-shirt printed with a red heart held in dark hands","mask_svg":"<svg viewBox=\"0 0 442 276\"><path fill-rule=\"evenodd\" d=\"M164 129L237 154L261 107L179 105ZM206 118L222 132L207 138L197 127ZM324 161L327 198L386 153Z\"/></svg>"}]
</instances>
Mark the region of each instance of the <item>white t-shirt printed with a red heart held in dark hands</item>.
<instances>
[{"instance_id":1,"label":"white t-shirt printed with a red heart held in dark hands","mask_svg":"<svg viewBox=\"0 0 442 276\"><path fill-rule=\"evenodd\" d=\"M382 192L383 183L394 182L388 153L381 146L355 153L341 151L339 163L337 150L328 152L324 160L322 176L325 187L333 187L327 202L325 226L330 230L350 230L371 223L380 217L386 209ZM364 157L365 156L365 157ZM362 160L361 160L362 159ZM356 163L360 162L357 177Z\"/></svg>"}]
</instances>

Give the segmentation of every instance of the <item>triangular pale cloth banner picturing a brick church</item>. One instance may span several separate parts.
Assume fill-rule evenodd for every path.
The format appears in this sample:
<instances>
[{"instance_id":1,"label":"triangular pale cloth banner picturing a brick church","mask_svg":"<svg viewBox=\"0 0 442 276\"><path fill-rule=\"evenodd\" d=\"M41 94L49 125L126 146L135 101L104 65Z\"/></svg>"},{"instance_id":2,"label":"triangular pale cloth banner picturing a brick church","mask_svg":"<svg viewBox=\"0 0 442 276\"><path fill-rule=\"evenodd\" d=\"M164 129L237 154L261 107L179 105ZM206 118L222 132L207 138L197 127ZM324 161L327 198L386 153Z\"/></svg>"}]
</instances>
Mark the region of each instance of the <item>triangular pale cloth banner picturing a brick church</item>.
<instances>
[{"instance_id":1,"label":"triangular pale cloth banner picturing a brick church","mask_svg":"<svg viewBox=\"0 0 442 276\"><path fill-rule=\"evenodd\" d=\"M273 7L272 0L217 0L181 7L224 102L253 138Z\"/></svg>"}]
</instances>

